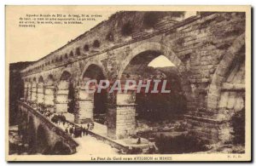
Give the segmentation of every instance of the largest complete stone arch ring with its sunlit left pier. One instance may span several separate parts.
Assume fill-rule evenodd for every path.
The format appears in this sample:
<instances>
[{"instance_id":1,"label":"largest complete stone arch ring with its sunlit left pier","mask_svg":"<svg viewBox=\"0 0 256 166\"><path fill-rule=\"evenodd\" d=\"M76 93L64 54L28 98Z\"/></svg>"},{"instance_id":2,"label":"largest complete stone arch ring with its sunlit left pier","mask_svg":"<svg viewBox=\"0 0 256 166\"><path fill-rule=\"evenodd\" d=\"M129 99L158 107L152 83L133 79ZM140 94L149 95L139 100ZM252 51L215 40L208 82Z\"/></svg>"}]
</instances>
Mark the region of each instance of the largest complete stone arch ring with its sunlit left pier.
<instances>
[{"instance_id":1,"label":"largest complete stone arch ring with its sunlit left pier","mask_svg":"<svg viewBox=\"0 0 256 166\"><path fill-rule=\"evenodd\" d=\"M131 78L131 74L128 74L129 71L132 72L132 67L130 67L131 64L136 67L139 66L133 71L137 72L139 68L145 68L151 60L154 60L160 55L166 56L166 58L176 66L177 75L180 78L180 93L184 96L183 105L187 105L188 103L189 109L193 109L192 104L189 102L192 101L192 95L186 67L183 62L178 59L177 55L164 44L148 42L137 45L136 48L131 50L123 63L120 64L117 79L123 80L127 78L136 80L137 77L132 76ZM126 74L127 77L125 78ZM113 95L112 100L114 108L110 109L108 116L108 136L113 137L114 139L120 139L135 134L136 95L137 94L134 91L129 91L128 94L120 93Z\"/></svg>"}]
</instances>

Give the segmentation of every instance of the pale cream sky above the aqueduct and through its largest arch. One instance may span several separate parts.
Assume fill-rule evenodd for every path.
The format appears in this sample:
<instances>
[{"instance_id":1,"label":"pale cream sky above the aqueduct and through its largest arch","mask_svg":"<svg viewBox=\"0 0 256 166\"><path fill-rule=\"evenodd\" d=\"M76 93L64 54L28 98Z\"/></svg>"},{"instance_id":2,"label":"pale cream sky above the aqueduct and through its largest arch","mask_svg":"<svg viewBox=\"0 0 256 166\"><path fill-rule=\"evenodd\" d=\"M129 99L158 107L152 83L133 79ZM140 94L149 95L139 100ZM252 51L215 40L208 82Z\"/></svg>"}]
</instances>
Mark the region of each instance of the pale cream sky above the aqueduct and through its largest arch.
<instances>
[{"instance_id":1,"label":"pale cream sky above the aqueduct and through its largest arch","mask_svg":"<svg viewBox=\"0 0 256 166\"><path fill-rule=\"evenodd\" d=\"M61 48L71 39L78 37L85 31L96 26L102 20L108 20L111 14L117 10L109 7L102 11L97 8L84 10L83 6L42 7L24 6L7 7L6 9L6 54L10 63L19 61L38 60L50 52ZM96 21L86 21L82 25L38 25L36 27L19 27L19 18L26 14L102 14ZM195 12L187 12L185 18L194 15ZM165 59L159 57L158 63L164 63ZM155 63L153 63L155 64ZM156 64L157 65L157 64ZM170 64L169 64L170 65Z\"/></svg>"}]
</instances>

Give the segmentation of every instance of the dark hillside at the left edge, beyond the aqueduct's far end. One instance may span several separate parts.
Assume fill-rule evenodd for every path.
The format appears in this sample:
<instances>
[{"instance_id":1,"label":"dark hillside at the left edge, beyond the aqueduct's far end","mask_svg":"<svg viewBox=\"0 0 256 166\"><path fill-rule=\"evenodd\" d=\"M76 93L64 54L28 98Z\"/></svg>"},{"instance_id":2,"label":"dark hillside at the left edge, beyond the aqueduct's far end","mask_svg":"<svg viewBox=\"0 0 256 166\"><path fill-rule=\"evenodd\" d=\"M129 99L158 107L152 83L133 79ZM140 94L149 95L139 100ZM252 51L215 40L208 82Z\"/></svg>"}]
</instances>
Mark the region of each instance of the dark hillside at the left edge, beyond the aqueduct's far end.
<instances>
[{"instance_id":1,"label":"dark hillside at the left edge, beyond the aqueduct's far end","mask_svg":"<svg viewBox=\"0 0 256 166\"><path fill-rule=\"evenodd\" d=\"M32 62L17 62L9 64L9 125L16 123L17 105L16 100L23 96L23 82L20 71Z\"/></svg>"}]
</instances>

